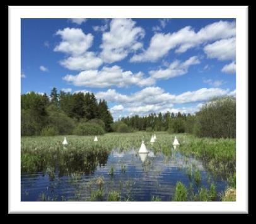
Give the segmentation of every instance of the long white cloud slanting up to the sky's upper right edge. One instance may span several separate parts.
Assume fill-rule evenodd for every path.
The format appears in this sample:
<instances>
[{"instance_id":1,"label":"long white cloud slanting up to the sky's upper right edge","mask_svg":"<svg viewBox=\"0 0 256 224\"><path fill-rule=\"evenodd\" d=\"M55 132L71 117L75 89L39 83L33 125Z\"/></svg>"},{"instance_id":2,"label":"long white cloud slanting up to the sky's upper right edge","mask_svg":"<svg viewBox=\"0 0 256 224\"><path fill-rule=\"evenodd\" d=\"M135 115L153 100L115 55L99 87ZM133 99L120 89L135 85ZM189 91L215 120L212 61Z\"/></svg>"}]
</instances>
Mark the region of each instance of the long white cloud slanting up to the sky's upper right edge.
<instances>
[{"instance_id":1,"label":"long white cloud slanting up to the sky's upper right edge","mask_svg":"<svg viewBox=\"0 0 256 224\"><path fill-rule=\"evenodd\" d=\"M176 53L183 53L202 43L231 38L235 36L235 31L235 22L218 21L205 26L198 32L195 32L191 26L185 26L174 33L156 33L151 38L148 49L134 55L131 62L155 62L171 49L176 48Z\"/></svg>"}]
</instances>

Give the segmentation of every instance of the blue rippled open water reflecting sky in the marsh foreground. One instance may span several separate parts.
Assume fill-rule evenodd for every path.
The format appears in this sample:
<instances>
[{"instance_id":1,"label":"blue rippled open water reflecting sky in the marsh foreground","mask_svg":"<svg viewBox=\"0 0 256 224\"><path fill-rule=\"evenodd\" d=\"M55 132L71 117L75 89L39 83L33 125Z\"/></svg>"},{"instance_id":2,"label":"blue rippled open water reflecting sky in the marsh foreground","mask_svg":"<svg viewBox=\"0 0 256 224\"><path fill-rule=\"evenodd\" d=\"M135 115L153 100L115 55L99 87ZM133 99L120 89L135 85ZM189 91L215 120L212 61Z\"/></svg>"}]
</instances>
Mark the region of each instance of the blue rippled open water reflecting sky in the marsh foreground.
<instances>
[{"instance_id":1,"label":"blue rippled open water reflecting sky in the marsh foreground","mask_svg":"<svg viewBox=\"0 0 256 224\"><path fill-rule=\"evenodd\" d=\"M82 163L78 164L83 166ZM104 182L103 201L107 200L109 191L119 192L122 201L151 201L153 196L172 201L177 181L189 188L187 167L201 172L201 184L193 185L195 193L201 187L209 189L212 182L218 193L226 188L226 182L207 173L202 162L179 152L163 155L112 150L102 160L97 158L93 165L87 164L86 169L62 172L63 168L56 164L53 171L47 168L40 172L21 172L21 201L90 201L91 193L99 189L98 177Z\"/></svg>"}]
</instances>

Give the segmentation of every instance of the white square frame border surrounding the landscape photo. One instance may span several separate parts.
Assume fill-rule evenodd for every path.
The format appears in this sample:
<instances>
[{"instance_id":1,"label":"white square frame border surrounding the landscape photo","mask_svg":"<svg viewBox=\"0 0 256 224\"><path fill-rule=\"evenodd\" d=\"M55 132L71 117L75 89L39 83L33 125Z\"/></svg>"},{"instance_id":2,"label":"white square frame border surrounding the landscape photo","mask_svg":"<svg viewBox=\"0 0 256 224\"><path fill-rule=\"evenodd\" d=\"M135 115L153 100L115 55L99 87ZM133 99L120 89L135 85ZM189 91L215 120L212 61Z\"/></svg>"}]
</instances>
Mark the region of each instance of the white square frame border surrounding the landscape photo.
<instances>
[{"instance_id":1,"label":"white square frame border surrounding the landscape photo","mask_svg":"<svg viewBox=\"0 0 256 224\"><path fill-rule=\"evenodd\" d=\"M236 18L236 201L21 202L21 18ZM248 6L9 6L9 213L248 213L247 89Z\"/></svg>"}]
</instances>

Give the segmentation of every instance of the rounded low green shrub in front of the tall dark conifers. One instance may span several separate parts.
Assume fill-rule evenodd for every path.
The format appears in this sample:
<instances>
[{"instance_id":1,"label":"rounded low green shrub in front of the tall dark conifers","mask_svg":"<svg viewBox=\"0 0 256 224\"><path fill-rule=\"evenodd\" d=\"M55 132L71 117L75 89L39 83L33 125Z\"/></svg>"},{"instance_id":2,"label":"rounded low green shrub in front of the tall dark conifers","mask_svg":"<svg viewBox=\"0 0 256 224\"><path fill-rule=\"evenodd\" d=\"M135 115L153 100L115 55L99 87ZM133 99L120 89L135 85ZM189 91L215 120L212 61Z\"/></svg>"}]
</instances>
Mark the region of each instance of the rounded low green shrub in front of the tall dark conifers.
<instances>
[{"instance_id":1,"label":"rounded low green shrub in front of the tall dark conifers","mask_svg":"<svg viewBox=\"0 0 256 224\"><path fill-rule=\"evenodd\" d=\"M74 129L75 135L103 135L104 133L102 126L92 123L79 123Z\"/></svg>"}]
</instances>

